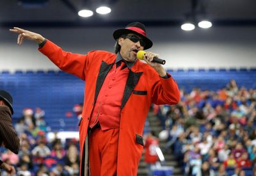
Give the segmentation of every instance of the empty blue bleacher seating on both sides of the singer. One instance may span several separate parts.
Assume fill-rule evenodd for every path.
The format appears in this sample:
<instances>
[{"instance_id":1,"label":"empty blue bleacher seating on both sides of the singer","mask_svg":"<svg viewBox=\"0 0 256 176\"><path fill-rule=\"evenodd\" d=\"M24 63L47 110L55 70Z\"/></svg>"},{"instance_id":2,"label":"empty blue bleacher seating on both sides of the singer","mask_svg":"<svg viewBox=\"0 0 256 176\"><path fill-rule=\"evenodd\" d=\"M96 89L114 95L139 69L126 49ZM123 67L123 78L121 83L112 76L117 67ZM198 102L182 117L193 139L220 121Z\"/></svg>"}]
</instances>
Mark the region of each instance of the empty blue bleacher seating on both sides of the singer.
<instances>
[{"instance_id":1,"label":"empty blue bleacher seating on both sides of the singer","mask_svg":"<svg viewBox=\"0 0 256 176\"><path fill-rule=\"evenodd\" d=\"M186 92L195 87L202 90L218 90L225 87L230 79L236 79L239 86L256 88L256 68L189 68L170 69L168 72L177 81L179 88ZM83 103L84 82L81 79L55 70L17 70L13 74L4 70L0 72L0 89L13 95L14 119L22 116L23 108L40 107L45 110L45 121L52 127L52 131L77 130L76 116L73 115L71 120L68 120L65 114L72 112L74 104ZM64 120L65 125L60 119Z\"/></svg>"}]
</instances>

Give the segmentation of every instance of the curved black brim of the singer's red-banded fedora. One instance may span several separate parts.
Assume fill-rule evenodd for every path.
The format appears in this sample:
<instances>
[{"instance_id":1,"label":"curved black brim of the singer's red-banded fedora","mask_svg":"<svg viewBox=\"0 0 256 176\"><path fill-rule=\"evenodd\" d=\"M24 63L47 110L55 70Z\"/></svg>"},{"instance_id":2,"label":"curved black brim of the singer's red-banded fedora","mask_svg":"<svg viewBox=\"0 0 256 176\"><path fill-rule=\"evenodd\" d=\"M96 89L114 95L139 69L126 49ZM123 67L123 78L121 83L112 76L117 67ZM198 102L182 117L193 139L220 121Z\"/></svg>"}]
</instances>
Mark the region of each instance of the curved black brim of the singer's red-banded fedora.
<instances>
[{"instance_id":1,"label":"curved black brim of the singer's red-banded fedora","mask_svg":"<svg viewBox=\"0 0 256 176\"><path fill-rule=\"evenodd\" d=\"M137 33L136 31L133 31L131 29L116 29L113 33L113 37L115 38L115 40L117 40L120 36L129 33L134 33L140 36L145 41L144 49L149 49L150 47L152 47L153 42L149 38L147 38L147 36L141 35L140 33Z\"/></svg>"}]
</instances>

